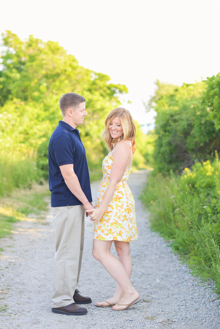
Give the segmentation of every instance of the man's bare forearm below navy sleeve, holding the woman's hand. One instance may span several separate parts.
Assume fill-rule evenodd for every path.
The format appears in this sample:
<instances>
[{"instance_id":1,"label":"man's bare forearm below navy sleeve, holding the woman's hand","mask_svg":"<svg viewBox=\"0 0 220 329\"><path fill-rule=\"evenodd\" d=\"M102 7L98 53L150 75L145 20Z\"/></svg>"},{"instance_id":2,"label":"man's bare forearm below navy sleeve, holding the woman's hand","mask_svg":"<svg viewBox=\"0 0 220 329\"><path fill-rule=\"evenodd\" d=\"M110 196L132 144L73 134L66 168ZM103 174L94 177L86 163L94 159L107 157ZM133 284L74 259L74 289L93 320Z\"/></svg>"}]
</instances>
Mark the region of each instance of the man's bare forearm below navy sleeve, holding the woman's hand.
<instances>
[{"instance_id":1,"label":"man's bare forearm below navy sleeve, holding the woman's hand","mask_svg":"<svg viewBox=\"0 0 220 329\"><path fill-rule=\"evenodd\" d=\"M65 183L67 184L68 189L72 192L72 194L77 197L79 201L82 202L84 209L91 209L92 202L89 202L87 197L85 196L81 186L79 184L78 177L76 176L73 170L73 164L63 164L60 166L61 174L64 178ZM86 213L86 216L88 214Z\"/></svg>"}]
</instances>

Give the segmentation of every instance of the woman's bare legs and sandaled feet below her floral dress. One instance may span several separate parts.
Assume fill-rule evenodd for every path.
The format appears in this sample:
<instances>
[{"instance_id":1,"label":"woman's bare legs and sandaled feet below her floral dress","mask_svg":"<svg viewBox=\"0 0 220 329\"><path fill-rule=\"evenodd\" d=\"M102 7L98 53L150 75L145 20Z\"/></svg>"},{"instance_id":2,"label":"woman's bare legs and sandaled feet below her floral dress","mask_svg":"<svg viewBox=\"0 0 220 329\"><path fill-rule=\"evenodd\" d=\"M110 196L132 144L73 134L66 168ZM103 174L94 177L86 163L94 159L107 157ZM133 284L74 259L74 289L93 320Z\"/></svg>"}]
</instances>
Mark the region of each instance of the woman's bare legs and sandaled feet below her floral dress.
<instances>
[{"instance_id":1,"label":"woman's bare legs and sandaled feet below her floral dress","mask_svg":"<svg viewBox=\"0 0 220 329\"><path fill-rule=\"evenodd\" d=\"M116 250L119 255L118 260L110 253L112 241L93 240L93 256L105 267L107 272L117 281L118 286L115 295L108 299L110 304L129 304L139 297L139 293L133 288L130 282L132 263L130 257L130 248L128 242L115 241ZM126 268L124 268L123 264ZM128 273L126 273L128 272ZM97 303L106 305L106 303Z\"/></svg>"}]
</instances>

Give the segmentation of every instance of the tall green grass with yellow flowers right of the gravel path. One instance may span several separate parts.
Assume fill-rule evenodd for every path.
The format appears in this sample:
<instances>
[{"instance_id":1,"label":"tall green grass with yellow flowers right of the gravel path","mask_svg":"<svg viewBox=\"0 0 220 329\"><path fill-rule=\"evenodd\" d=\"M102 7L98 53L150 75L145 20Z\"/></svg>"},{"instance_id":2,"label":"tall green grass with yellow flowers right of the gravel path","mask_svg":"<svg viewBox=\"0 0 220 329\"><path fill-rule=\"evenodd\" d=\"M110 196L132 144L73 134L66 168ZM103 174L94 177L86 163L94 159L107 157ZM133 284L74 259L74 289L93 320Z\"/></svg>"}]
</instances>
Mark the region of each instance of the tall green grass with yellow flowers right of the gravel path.
<instances>
[{"instance_id":1,"label":"tall green grass with yellow flowers right of the gravel path","mask_svg":"<svg viewBox=\"0 0 220 329\"><path fill-rule=\"evenodd\" d=\"M192 271L214 279L220 292L220 162L185 168L180 176L150 175L141 196L153 230L171 242Z\"/></svg>"}]
</instances>

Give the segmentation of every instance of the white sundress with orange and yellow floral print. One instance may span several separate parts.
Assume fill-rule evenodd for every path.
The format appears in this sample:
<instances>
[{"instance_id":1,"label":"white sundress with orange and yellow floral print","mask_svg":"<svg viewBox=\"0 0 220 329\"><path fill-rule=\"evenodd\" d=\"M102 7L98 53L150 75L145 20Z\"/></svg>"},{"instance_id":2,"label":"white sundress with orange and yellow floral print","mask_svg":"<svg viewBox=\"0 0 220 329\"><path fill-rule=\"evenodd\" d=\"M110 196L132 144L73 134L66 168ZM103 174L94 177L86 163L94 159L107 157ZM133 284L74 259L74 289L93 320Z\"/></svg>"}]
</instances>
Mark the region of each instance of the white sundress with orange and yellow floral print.
<instances>
[{"instance_id":1,"label":"white sundress with orange and yellow floral print","mask_svg":"<svg viewBox=\"0 0 220 329\"><path fill-rule=\"evenodd\" d=\"M131 163L132 155L131 150ZM96 208L99 207L108 187L112 163L111 151L102 162L103 178L96 196ZM131 163L126 167L106 211L101 219L95 223L93 237L95 240L134 241L138 239L134 198L126 183L131 171Z\"/></svg>"}]
</instances>

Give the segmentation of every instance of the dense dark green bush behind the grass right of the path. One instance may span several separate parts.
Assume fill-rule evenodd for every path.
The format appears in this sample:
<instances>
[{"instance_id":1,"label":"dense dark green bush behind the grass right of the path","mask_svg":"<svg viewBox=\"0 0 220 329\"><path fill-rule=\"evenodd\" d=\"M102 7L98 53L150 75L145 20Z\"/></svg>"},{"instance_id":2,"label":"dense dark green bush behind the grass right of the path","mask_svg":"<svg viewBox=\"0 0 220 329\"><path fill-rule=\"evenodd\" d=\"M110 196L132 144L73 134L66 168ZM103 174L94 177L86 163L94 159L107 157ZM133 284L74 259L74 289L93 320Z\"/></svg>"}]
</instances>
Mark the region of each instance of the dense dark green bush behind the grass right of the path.
<instances>
[{"instance_id":1,"label":"dense dark green bush behind the grass right of the path","mask_svg":"<svg viewBox=\"0 0 220 329\"><path fill-rule=\"evenodd\" d=\"M206 103L210 103L209 90L216 95L218 93L216 88L210 86L210 80L183 84L181 87L158 81L156 84L158 89L150 105L157 112L155 134L158 137L154 159L158 169L162 172L182 170L191 167L196 159L214 159L214 151L220 150L216 129L218 103L215 102L216 122Z\"/></svg>"}]
</instances>

